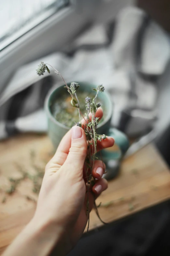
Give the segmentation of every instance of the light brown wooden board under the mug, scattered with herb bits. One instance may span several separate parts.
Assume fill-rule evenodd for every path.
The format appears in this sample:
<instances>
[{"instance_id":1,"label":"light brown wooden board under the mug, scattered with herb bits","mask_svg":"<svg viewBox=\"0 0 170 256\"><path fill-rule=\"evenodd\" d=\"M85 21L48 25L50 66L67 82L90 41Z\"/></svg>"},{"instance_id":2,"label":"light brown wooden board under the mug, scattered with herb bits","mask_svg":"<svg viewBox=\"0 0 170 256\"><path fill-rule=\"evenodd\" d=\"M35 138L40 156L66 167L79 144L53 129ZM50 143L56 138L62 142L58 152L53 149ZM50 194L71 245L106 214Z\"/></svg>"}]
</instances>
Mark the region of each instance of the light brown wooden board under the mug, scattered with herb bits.
<instances>
[{"instance_id":1,"label":"light brown wooden board under the mug, scattered with herb bits","mask_svg":"<svg viewBox=\"0 0 170 256\"><path fill-rule=\"evenodd\" d=\"M35 162L44 168L53 154L45 135L19 135L0 143L0 253L32 218L37 200L29 179L21 181L17 190L8 195L10 178L21 176L18 165L33 172L31 152ZM97 199L102 202L99 213L105 222L112 222L170 198L170 173L154 145L149 144L124 160L120 175L109 181L108 189ZM92 211L90 229L101 226Z\"/></svg>"}]
</instances>

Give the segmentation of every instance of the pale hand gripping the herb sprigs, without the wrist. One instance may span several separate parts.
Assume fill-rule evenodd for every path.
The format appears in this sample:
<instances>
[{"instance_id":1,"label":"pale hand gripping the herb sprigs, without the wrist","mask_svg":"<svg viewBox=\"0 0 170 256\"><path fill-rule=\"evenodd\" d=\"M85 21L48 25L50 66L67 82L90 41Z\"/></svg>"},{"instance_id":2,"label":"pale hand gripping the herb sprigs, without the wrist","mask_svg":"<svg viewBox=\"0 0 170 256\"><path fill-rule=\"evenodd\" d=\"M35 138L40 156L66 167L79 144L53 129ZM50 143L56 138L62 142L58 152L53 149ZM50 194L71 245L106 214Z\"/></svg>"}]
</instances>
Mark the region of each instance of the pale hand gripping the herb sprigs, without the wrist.
<instances>
[{"instance_id":1,"label":"pale hand gripping the herb sprigs, without the wrist","mask_svg":"<svg viewBox=\"0 0 170 256\"><path fill-rule=\"evenodd\" d=\"M96 116L102 118L102 109L97 110ZM114 139L107 137L98 141L97 148L101 150L113 144ZM86 152L85 132L75 126L63 137L54 157L47 164L38 198L34 220L56 227L56 232L60 233L59 251L62 255L75 246L88 221L87 193L83 179ZM89 192L90 211L94 200L107 188L107 181L102 179L103 167L102 161L95 161L92 175L97 180Z\"/></svg>"}]
</instances>

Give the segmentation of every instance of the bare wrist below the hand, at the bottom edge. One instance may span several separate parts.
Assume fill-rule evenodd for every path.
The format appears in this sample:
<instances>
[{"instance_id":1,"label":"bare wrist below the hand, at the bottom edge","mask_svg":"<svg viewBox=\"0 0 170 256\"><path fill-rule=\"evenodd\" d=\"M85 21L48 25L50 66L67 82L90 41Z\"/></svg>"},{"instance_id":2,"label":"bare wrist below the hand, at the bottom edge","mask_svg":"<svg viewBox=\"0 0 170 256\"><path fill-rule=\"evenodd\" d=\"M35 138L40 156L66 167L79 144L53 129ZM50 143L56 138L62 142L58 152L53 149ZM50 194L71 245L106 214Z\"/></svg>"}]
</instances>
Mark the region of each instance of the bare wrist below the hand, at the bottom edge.
<instances>
[{"instance_id":1,"label":"bare wrist below the hand, at the bottom edge","mask_svg":"<svg viewBox=\"0 0 170 256\"><path fill-rule=\"evenodd\" d=\"M47 256L55 246L60 247L62 233L62 228L34 217L7 248L4 256ZM64 255L62 248L58 255Z\"/></svg>"}]
</instances>

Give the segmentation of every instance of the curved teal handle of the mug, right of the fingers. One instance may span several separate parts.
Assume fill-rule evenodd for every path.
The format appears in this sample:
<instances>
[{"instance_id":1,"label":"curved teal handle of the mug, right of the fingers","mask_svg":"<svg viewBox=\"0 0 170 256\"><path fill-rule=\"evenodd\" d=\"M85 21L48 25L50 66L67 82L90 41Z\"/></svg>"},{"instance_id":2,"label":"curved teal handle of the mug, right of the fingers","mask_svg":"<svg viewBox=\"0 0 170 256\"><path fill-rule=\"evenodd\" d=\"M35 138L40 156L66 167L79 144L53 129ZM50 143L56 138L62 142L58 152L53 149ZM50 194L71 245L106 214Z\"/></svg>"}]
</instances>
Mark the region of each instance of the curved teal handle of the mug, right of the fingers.
<instances>
[{"instance_id":1,"label":"curved teal handle of the mug, right of the fingers","mask_svg":"<svg viewBox=\"0 0 170 256\"><path fill-rule=\"evenodd\" d=\"M129 140L127 136L116 128L110 128L107 136L113 137L115 144L113 147L101 151L103 160L121 160L129 148Z\"/></svg>"}]
</instances>

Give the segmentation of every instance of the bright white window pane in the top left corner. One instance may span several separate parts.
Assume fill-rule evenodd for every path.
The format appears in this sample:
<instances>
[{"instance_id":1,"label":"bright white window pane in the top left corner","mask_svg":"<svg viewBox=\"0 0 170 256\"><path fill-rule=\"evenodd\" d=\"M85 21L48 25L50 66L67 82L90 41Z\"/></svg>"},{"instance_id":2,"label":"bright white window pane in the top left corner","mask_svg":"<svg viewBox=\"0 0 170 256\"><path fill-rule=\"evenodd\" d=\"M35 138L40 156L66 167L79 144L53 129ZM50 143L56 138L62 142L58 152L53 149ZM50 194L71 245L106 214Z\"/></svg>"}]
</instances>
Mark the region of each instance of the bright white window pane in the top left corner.
<instances>
[{"instance_id":1,"label":"bright white window pane in the top left corner","mask_svg":"<svg viewBox=\"0 0 170 256\"><path fill-rule=\"evenodd\" d=\"M0 50L67 4L68 0L1 1Z\"/></svg>"}]
</instances>

